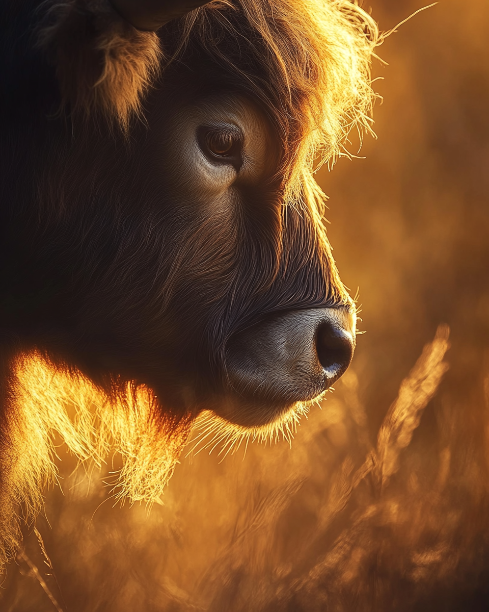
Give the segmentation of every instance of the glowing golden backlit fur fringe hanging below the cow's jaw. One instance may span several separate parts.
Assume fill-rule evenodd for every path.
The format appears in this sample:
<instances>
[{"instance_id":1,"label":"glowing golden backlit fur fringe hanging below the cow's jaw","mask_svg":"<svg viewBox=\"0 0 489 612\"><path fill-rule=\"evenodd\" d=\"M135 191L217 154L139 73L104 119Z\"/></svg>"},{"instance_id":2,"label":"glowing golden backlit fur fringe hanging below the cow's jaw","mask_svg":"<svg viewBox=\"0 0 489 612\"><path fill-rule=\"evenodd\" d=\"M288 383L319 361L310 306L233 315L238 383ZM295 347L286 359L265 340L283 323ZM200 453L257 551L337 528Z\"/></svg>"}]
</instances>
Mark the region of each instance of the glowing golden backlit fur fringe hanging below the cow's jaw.
<instances>
[{"instance_id":1,"label":"glowing golden backlit fur fringe hanging below the cow's jaw","mask_svg":"<svg viewBox=\"0 0 489 612\"><path fill-rule=\"evenodd\" d=\"M13 364L10 404L10 469L0 515L2 560L20 544L16 510L30 520L42 509L42 490L56 481L56 440L61 438L87 469L119 453L109 483L116 499L160 502L191 427L191 416L175 422L157 415L152 392L128 385L124 398L109 398L76 370L54 365L40 353ZM7 455L4 455L4 457ZM95 465L94 465L95 464ZM21 503L19 503L21 502Z\"/></svg>"}]
</instances>

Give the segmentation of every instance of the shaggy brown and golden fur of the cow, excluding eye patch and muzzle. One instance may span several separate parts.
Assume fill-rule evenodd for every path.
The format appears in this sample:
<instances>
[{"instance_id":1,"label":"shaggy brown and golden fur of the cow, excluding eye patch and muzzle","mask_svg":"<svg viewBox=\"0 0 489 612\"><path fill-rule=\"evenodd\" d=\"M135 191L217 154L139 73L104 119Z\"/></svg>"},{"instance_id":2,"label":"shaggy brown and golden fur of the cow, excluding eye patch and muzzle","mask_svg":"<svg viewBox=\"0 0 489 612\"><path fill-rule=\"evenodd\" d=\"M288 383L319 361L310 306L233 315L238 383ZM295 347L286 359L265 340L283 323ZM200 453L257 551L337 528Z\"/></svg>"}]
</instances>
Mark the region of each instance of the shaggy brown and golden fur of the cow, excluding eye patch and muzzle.
<instances>
[{"instance_id":1,"label":"shaggy brown and golden fur of the cow, excluding eye patch and muzzle","mask_svg":"<svg viewBox=\"0 0 489 612\"><path fill-rule=\"evenodd\" d=\"M2 18L0 559L15 506L32 517L53 479L52 430L81 460L115 441L119 493L155 499L207 407L183 410L178 384L222 390L229 338L265 315L351 304L312 174L369 129L378 42L347 0L216 1L157 35L105 2L33 4ZM186 79L251 98L273 126L276 176L240 214L164 199L151 138Z\"/></svg>"}]
</instances>

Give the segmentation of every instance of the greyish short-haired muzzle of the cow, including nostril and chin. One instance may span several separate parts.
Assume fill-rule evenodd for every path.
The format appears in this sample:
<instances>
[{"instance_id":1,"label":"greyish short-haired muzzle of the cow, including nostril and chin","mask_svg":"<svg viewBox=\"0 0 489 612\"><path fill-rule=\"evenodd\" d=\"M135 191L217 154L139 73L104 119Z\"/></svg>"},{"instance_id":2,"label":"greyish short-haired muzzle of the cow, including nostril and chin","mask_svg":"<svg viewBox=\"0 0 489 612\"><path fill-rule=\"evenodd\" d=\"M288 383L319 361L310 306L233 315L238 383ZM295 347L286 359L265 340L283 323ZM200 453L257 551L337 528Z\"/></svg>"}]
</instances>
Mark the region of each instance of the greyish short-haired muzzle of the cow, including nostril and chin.
<instances>
[{"instance_id":1,"label":"greyish short-haired muzzle of the cow, including nostril and chin","mask_svg":"<svg viewBox=\"0 0 489 612\"><path fill-rule=\"evenodd\" d=\"M350 365L355 327L351 307L311 308L278 313L236 334L226 355L222 416L265 424L322 394Z\"/></svg>"}]
</instances>

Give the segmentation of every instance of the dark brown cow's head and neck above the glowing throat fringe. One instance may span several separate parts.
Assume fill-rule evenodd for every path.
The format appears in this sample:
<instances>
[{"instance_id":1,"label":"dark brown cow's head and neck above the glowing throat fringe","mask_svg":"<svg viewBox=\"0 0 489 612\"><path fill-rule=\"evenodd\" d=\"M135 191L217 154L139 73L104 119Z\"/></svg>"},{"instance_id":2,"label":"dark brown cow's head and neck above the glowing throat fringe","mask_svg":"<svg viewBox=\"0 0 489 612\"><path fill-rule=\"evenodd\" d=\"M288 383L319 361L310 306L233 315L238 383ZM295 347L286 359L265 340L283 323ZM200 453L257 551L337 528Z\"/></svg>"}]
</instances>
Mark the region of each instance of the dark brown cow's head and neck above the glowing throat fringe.
<instances>
[{"instance_id":1,"label":"dark brown cow's head and neck above the glowing throat fringe","mask_svg":"<svg viewBox=\"0 0 489 612\"><path fill-rule=\"evenodd\" d=\"M375 23L348 0L200 4L2 3L4 483L21 354L240 427L350 364L312 172L368 127Z\"/></svg>"}]
</instances>

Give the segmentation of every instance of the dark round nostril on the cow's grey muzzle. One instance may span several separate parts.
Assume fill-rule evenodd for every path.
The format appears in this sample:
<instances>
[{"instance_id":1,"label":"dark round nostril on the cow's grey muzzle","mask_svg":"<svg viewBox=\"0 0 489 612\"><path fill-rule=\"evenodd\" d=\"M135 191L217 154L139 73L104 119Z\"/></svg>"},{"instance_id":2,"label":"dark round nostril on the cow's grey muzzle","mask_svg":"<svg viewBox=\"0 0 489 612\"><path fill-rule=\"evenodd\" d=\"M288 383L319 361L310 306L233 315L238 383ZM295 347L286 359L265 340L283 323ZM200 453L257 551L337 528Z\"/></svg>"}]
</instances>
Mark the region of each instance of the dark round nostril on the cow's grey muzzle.
<instances>
[{"instance_id":1,"label":"dark round nostril on the cow's grey muzzle","mask_svg":"<svg viewBox=\"0 0 489 612\"><path fill-rule=\"evenodd\" d=\"M331 323L322 323L316 331L316 351L328 386L334 383L350 365L353 338L347 331Z\"/></svg>"}]
</instances>

